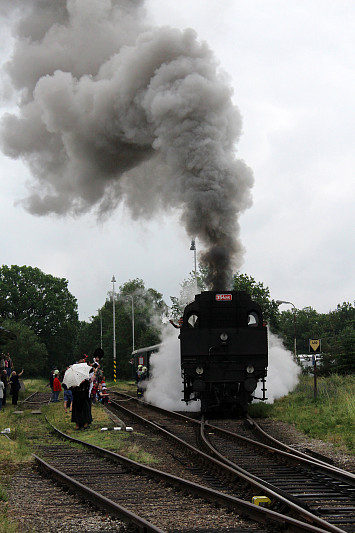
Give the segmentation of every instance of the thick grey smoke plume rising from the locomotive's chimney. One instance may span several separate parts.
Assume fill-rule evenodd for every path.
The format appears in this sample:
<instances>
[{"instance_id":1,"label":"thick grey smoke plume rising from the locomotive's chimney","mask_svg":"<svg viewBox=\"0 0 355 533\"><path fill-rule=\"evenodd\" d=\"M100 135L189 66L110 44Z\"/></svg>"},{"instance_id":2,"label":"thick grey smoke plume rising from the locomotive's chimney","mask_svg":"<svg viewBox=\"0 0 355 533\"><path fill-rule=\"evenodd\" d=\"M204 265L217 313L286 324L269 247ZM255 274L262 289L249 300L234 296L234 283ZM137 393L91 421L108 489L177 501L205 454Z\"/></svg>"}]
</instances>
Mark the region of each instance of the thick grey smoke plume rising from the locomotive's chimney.
<instances>
[{"instance_id":1,"label":"thick grey smoke plume rising from the locomotive's chimney","mask_svg":"<svg viewBox=\"0 0 355 533\"><path fill-rule=\"evenodd\" d=\"M19 100L2 118L5 154L33 176L35 215L133 218L177 209L198 237L210 288L242 263L238 215L250 169L235 156L241 119L228 78L191 29L150 27L140 0L2 0Z\"/></svg>"}]
</instances>

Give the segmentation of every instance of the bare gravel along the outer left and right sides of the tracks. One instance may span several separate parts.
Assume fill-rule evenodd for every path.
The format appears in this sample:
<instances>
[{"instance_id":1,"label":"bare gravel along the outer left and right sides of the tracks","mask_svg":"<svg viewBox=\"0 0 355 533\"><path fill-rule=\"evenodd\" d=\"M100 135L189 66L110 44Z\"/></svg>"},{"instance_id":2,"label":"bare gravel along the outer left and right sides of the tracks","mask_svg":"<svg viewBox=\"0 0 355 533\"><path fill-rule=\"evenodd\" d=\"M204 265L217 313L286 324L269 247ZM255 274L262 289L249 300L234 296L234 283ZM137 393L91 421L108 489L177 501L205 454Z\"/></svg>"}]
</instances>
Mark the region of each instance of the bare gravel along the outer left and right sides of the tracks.
<instances>
[{"instance_id":1,"label":"bare gravel along the outer left and right sides of the tracks","mask_svg":"<svg viewBox=\"0 0 355 533\"><path fill-rule=\"evenodd\" d=\"M317 439L311 439L292 425L269 419L257 422L275 438L294 448L306 448L331 458L334 464L355 473L355 457ZM156 447L159 450L159 447ZM120 520L111 519L92 505L53 485L40 476L31 465L20 468L9 477L8 516L19 523L20 532L126 532Z\"/></svg>"}]
</instances>

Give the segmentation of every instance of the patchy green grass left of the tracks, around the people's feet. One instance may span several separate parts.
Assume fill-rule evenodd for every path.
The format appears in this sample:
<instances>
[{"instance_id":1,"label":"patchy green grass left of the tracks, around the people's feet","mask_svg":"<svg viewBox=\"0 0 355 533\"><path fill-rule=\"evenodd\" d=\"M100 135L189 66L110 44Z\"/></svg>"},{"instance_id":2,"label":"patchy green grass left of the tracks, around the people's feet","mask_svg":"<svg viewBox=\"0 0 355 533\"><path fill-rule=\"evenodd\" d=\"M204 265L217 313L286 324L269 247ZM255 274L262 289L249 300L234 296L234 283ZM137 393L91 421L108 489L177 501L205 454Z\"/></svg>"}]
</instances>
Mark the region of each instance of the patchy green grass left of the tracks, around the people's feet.
<instances>
[{"instance_id":1,"label":"patchy green grass left of the tracks, around the people's feet","mask_svg":"<svg viewBox=\"0 0 355 533\"><path fill-rule=\"evenodd\" d=\"M93 423L88 431L75 431L75 424L71 422L70 414L65 414L63 406L63 393L60 393L60 402L43 405L41 414L32 414L31 410L20 411L21 401L36 391L48 391L47 380L25 380L25 391L20 391L19 405L11 404L11 396L7 397L6 407L0 411L0 431L10 428L7 438L0 435L0 533L15 533L18 531L16 521L10 520L7 515L7 492L11 475L24 465L32 461L32 453L37 444L46 442L50 427L45 423L45 416L58 429L80 440L110 449L130 459L146 464L155 462L154 457L147 454L143 448L132 443L131 434L124 431L105 431L102 427L113 427L101 404L92 406ZM135 385L132 381L114 384L107 383L111 389L126 391L135 394Z\"/></svg>"}]
</instances>

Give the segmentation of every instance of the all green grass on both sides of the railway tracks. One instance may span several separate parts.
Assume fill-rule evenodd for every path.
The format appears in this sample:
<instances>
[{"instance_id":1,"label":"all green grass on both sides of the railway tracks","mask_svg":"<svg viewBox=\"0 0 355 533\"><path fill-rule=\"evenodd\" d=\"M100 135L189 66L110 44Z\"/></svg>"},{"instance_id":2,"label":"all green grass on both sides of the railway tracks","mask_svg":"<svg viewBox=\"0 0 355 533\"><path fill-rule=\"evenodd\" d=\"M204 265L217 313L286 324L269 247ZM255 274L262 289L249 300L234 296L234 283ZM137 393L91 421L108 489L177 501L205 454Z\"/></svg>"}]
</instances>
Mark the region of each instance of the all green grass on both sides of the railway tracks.
<instances>
[{"instance_id":1,"label":"all green grass on both sides of the railway tracks","mask_svg":"<svg viewBox=\"0 0 355 533\"><path fill-rule=\"evenodd\" d=\"M25 386L26 392L20 392L20 401L37 390L48 390L45 380L25 380ZM108 383L108 386L135 394L133 382L116 383L114 387L113 383ZM60 399L63 399L63 393ZM101 404L93 405L93 423L89 431L74 431L74 424L70 421L70 415L64 413L62 401L45 405L41 414L32 414L31 410L19 411L21 404L17 408L12 406L11 397L0 411L0 431L10 428L7 436L0 435L0 533L18 531L16 522L7 516L7 489L11 474L29 463L35 445L45 441L49 431L49 426L44 423L45 415L64 433L131 459L154 463L154 458L134 442L134 432L101 431L102 427L116 426ZM330 442L347 453L355 454L355 376L318 378L316 398L313 376L301 376L293 392L273 404L251 405L250 414L293 424L310 437Z\"/></svg>"}]
</instances>

